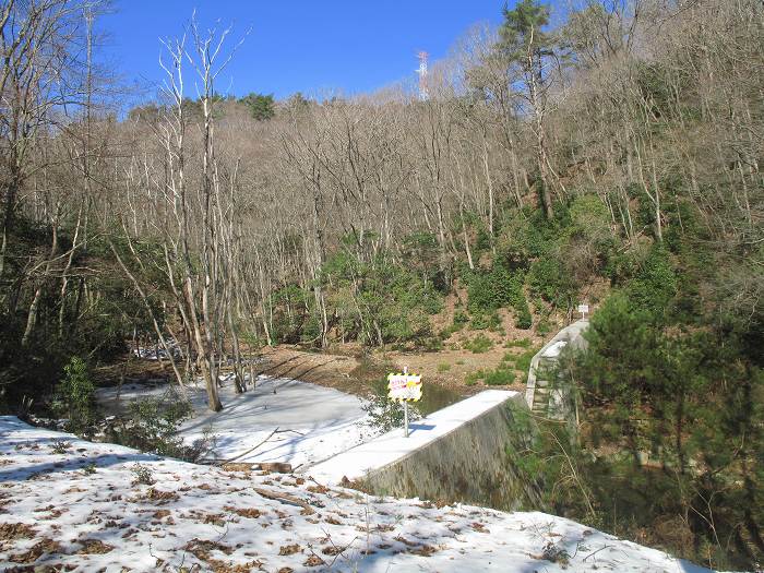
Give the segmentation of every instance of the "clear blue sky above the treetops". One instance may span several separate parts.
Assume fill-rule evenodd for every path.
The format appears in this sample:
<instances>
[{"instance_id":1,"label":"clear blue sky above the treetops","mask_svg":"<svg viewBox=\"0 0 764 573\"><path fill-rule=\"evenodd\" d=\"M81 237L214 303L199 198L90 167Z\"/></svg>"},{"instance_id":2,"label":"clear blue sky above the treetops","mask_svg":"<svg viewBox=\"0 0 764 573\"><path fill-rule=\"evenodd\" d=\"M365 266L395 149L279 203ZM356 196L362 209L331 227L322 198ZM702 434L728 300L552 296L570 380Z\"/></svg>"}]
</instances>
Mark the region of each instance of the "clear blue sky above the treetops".
<instances>
[{"instance_id":1,"label":"clear blue sky above the treetops","mask_svg":"<svg viewBox=\"0 0 764 573\"><path fill-rule=\"evenodd\" d=\"M122 80L147 87L143 97L162 81L158 38L182 34L194 8L203 27L218 19L224 27L232 24L232 40L251 27L217 91L284 98L295 92L368 92L413 77L417 51L445 56L470 24L500 23L502 5L503 0L115 0L115 12L97 25L108 34L102 53Z\"/></svg>"}]
</instances>

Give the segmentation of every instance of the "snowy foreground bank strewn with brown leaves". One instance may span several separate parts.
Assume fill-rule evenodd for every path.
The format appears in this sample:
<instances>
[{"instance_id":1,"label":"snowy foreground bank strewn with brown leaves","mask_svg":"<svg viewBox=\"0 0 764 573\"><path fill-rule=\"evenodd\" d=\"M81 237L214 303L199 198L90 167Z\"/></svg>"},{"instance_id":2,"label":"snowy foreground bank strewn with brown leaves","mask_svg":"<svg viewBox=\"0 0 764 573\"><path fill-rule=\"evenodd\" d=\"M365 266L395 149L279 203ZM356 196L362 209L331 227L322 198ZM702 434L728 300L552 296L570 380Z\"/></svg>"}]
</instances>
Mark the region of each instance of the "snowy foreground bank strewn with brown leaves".
<instances>
[{"instance_id":1,"label":"snowy foreground bank strewn with brown leaves","mask_svg":"<svg viewBox=\"0 0 764 573\"><path fill-rule=\"evenodd\" d=\"M139 484L133 469L140 464ZM706 571L544 513L224 471L0 417L5 571ZM2 568L0 568L2 569Z\"/></svg>"}]
</instances>

